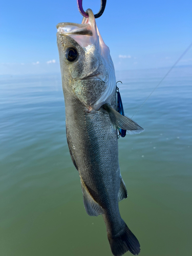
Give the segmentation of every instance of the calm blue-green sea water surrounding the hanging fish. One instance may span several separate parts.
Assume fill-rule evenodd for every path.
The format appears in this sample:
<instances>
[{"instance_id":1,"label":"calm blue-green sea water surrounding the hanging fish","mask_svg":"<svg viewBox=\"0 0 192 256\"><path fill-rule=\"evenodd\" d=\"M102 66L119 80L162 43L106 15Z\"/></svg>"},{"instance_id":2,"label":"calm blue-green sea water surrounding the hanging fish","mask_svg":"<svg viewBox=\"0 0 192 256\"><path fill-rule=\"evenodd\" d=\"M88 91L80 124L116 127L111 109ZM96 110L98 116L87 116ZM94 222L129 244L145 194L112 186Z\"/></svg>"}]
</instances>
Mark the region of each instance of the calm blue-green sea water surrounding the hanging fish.
<instances>
[{"instance_id":1,"label":"calm blue-green sea water surrounding the hanging fish","mask_svg":"<svg viewBox=\"0 0 192 256\"><path fill-rule=\"evenodd\" d=\"M166 72L116 73L127 116ZM83 207L60 74L1 76L0 88L0 254L112 255L102 217ZM133 118L145 131L119 139L119 208L140 256L192 255L191 98L192 68L175 68Z\"/></svg>"}]
</instances>

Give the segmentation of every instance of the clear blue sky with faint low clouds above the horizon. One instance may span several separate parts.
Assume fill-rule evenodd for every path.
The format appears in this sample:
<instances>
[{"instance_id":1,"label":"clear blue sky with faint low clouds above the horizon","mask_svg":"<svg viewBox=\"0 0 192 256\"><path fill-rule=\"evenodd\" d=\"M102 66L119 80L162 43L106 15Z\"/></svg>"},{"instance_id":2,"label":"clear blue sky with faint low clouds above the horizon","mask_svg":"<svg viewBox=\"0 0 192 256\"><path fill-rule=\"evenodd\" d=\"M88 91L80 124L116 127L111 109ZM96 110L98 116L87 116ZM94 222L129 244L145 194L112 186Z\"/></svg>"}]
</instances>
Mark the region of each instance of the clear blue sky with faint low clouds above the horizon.
<instances>
[{"instance_id":1,"label":"clear blue sky with faint low clouds above the horizon","mask_svg":"<svg viewBox=\"0 0 192 256\"><path fill-rule=\"evenodd\" d=\"M97 13L99 0L83 0ZM2 1L0 75L60 72L56 25L81 23L76 0ZM192 41L191 0L108 0L96 19L115 70L171 67ZM192 65L192 49L178 65Z\"/></svg>"}]
</instances>

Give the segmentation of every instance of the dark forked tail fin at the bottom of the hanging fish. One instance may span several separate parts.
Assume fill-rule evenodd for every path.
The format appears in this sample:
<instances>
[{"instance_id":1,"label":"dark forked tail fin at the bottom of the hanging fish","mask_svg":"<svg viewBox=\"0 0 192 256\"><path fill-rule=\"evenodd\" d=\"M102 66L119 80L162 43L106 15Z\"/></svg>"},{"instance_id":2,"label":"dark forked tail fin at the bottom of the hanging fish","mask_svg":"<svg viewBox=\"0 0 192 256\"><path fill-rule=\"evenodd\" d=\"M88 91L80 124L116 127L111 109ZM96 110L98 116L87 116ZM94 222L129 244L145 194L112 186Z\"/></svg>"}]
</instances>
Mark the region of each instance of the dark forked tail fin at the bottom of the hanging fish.
<instances>
[{"instance_id":1,"label":"dark forked tail fin at the bottom of the hanging fish","mask_svg":"<svg viewBox=\"0 0 192 256\"><path fill-rule=\"evenodd\" d=\"M140 252L139 241L126 224L121 234L115 238L110 238L110 236L108 236L108 240L110 242L112 253L115 256L121 256L127 251L130 251L134 255L138 255Z\"/></svg>"}]
</instances>

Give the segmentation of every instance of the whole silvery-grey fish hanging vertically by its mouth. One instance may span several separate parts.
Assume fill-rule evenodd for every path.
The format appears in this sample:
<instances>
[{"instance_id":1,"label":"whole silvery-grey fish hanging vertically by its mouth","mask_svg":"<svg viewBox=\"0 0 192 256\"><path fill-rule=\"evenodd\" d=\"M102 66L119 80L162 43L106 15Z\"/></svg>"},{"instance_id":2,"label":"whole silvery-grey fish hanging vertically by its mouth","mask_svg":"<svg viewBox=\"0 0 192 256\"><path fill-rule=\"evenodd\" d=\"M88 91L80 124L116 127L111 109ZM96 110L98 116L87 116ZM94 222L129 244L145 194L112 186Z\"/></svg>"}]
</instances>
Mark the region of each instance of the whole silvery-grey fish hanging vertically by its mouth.
<instances>
[{"instance_id":1,"label":"whole silvery-grey fish hanging vertically by its mouth","mask_svg":"<svg viewBox=\"0 0 192 256\"><path fill-rule=\"evenodd\" d=\"M91 9L81 24L59 23L57 46L65 98L66 136L78 170L84 208L102 215L115 256L140 252L140 244L122 220L118 202L127 198L118 159L118 129L143 131L117 111L116 78L108 46Z\"/></svg>"}]
</instances>

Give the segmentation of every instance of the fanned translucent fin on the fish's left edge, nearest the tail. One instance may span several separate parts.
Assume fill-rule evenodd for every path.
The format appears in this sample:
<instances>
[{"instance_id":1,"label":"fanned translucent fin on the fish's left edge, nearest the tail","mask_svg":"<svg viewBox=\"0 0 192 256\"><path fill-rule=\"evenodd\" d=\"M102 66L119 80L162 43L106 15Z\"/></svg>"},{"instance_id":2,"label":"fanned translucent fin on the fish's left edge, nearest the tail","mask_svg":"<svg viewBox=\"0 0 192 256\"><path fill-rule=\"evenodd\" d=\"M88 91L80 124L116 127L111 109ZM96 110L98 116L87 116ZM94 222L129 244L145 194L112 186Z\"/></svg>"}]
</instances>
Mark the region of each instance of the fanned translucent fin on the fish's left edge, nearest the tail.
<instances>
[{"instance_id":1,"label":"fanned translucent fin on the fish's left edge, nearest the tail","mask_svg":"<svg viewBox=\"0 0 192 256\"><path fill-rule=\"evenodd\" d=\"M83 195L83 203L84 208L86 208L87 214L89 216L98 216L100 214L104 214L102 207L93 199L89 190L86 186L86 183L81 179L81 188L82 188L82 195Z\"/></svg>"}]
</instances>

